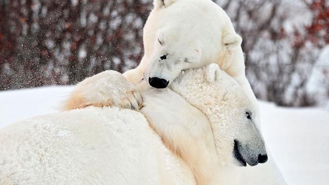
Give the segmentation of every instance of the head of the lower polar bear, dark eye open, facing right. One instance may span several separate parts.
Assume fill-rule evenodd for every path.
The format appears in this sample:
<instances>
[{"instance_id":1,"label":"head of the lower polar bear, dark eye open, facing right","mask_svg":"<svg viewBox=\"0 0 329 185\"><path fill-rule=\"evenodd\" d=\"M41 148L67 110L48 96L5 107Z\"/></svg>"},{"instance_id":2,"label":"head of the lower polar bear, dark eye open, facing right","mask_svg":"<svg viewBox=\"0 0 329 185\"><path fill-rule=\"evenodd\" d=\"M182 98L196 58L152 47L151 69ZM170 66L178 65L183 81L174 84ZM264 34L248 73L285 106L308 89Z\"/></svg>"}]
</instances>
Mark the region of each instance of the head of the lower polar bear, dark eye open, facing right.
<instances>
[{"instance_id":1,"label":"head of the lower polar bear, dark eye open, facing right","mask_svg":"<svg viewBox=\"0 0 329 185\"><path fill-rule=\"evenodd\" d=\"M253 106L238 83L217 64L183 71L171 88L208 117L221 161L240 166L267 161Z\"/></svg>"}]
</instances>

